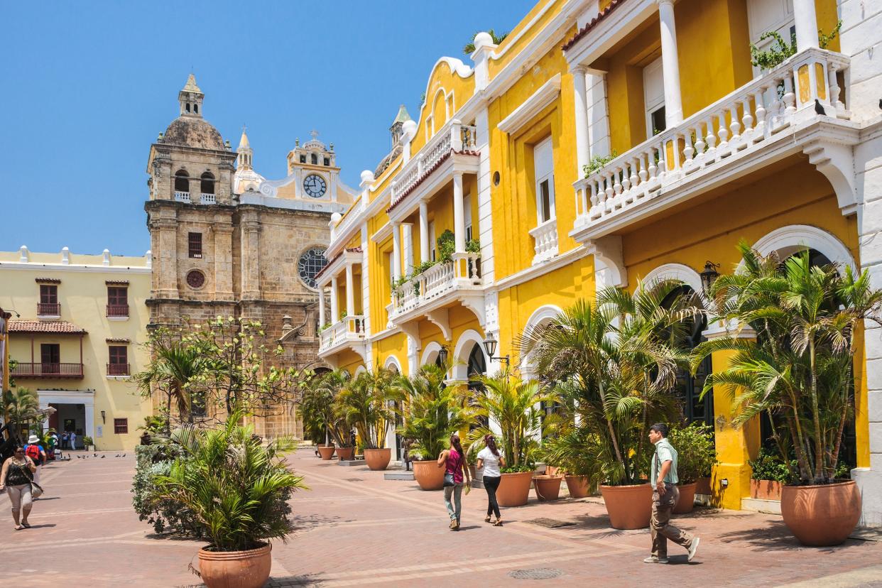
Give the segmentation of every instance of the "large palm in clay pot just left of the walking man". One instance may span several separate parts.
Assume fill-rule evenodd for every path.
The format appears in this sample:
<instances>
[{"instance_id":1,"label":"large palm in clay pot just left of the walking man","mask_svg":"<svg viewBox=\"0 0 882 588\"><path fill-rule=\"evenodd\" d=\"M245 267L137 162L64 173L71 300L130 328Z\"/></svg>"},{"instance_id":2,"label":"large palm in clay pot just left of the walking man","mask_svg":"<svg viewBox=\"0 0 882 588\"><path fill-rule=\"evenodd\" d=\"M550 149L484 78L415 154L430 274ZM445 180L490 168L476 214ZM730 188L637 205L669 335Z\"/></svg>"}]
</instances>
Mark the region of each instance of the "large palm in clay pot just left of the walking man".
<instances>
[{"instance_id":1,"label":"large palm in clay pot just left of the walking man","mask_svg":"<svg viewBox=\"0 0 882 588\"><path fill-rule=\"evenodd\" d=\"M639 284L632 294L605 288L597 302L572 307L519 339L542 385L557 390L584 441L581 471L602 483L610 523L649 525L647 430L676 413L670 391L687 355L684 319L696 310L680 284Z\"/></svg>"}]
</instances>

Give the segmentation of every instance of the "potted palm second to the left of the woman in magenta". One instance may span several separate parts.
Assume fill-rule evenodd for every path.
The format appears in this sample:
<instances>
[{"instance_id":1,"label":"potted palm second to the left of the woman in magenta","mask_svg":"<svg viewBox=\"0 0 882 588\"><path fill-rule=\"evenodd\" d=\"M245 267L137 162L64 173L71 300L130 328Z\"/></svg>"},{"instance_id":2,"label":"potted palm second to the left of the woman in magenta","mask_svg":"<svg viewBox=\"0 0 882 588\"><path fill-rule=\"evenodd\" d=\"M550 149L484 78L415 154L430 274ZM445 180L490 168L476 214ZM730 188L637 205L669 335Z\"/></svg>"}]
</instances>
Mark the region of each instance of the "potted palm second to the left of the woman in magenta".
<instances>
[{"instance_id":1,"label":"potted palm second to the left of the woman in magenta","mask_svg":"<svg viewBox=\"0 0 882 588\"><path fill-rule=\"evenodd\" d=\"M337 409L364 444L364 461L371 470L385 470L392 458L385 441L395 421L393 403L400 399L394 385L397 377L392 370L377 366L349 380L337 398Z\"/></svg>"}]
</instances>

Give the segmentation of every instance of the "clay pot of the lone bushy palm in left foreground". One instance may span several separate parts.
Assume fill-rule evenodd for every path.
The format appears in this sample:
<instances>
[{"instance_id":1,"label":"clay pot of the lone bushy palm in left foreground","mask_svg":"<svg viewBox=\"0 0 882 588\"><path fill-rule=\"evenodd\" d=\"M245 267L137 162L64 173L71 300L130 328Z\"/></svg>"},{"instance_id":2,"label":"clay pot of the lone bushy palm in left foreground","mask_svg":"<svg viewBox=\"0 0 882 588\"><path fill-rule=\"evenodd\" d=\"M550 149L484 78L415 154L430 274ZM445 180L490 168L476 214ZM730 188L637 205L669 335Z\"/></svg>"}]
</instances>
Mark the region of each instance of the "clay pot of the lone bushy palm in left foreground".
<instances>
[{"instance_id":1,"label":"clay pot of the lone bushy palm in left foreground","mask_svg":"<svg viewBox=\"0 0 882 588\"><path fill-rule=\"evenodd\" d=\"M248 551L199 549L199 574L208 588L261 588L270 577L272 546Z\"/></svg>"}]
</instances>

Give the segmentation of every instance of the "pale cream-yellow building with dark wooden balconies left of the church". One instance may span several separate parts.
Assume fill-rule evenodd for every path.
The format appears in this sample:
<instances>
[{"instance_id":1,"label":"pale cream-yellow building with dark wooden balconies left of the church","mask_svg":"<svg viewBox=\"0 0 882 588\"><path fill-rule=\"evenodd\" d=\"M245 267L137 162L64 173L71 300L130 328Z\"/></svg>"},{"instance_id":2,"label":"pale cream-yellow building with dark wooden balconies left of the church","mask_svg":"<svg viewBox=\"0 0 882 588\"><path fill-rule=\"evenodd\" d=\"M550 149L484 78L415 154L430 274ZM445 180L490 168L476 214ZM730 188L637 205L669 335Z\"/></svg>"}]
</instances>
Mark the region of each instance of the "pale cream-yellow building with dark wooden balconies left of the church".
<instances>
[{"instance_id":1,"label":"pale cream-yellow building with dark wooden balconies left of the church","mask_svg":"<svg viewBox=\"0 0 882 588\"><path fill-rule=\"evenodd\" d=\"M148 361L146 257L0 252L0 307L17 386L56 413L44 427L75 431L96 450L131 450L151 413L131 379Z\"/></svg>"}]
</instances>

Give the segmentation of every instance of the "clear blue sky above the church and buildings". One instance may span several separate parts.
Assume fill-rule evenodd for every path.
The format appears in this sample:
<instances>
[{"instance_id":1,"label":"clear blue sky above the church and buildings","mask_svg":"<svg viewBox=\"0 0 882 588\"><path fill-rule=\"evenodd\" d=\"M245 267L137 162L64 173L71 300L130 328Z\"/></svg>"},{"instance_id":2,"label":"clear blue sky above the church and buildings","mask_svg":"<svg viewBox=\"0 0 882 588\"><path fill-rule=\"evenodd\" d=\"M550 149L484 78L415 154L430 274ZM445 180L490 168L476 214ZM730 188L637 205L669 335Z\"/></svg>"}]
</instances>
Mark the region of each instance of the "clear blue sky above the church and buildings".
<instances>
[{"instance_id":1,"label":"clear blue sky above the church and buildings","mask_svg":"<svg viewBox=\"0 0 882 588\"><path fill-rule=\"evenodd\" d=\"M333 143L357 186L416 115L431 66L533 1L4 3L0 250L143 255L149 146L196 73L206 119L285 175L295 138Z\"/></svg>"}]
</instances>

